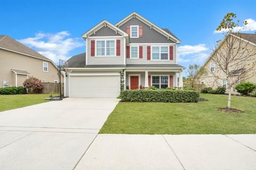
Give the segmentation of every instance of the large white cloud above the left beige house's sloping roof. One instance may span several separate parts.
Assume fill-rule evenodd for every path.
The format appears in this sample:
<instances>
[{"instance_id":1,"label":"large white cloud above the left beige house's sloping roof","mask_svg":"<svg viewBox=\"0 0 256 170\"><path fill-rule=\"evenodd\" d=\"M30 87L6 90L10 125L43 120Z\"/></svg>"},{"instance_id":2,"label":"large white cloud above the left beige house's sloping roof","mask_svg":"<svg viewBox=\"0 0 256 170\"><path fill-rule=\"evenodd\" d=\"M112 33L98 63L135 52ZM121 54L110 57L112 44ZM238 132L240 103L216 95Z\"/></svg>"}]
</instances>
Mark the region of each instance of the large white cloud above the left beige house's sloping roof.
<instances>
[{"instance_id":1,"label":"large white cloud above the left beige house's sloping roof","mask_svg":"<svg viewBox=\"0 0 256 170\"><path fill-rule=\"evenodd\" d=\"M81 38L68 38L68 31L57 33L36 33L35 37L29 37L19 40L21 43L34 48L38 53L50 58L55 63L59 59L67 60L68 53L78 47L85 46Z\"/></svg>"}]
</instances>

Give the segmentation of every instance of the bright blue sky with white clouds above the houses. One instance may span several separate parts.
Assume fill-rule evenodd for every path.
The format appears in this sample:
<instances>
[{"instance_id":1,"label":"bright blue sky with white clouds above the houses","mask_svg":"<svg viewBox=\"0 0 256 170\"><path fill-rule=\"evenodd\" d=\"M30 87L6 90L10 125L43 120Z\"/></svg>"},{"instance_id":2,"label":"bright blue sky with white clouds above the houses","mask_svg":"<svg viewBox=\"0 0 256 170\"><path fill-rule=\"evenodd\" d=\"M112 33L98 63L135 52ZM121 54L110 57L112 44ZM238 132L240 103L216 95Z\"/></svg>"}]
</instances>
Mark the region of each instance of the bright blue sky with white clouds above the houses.
<instances>
[{"instance_id":1,"label":"bright blue sky with white clouds above the houses","mask_svg":"<svg viewBox=\"0 0 256 170\"><path fill-rule=\"evenodd\" d=\"M115 24L137 12L181 40L178 64L202 65L228 12L256 32L256 1L0 1L0 35L8 35L58 64L85 52L81 35L102 20ZM186 71L185 71L186 75Z\"/></svg>"}]
</instances>

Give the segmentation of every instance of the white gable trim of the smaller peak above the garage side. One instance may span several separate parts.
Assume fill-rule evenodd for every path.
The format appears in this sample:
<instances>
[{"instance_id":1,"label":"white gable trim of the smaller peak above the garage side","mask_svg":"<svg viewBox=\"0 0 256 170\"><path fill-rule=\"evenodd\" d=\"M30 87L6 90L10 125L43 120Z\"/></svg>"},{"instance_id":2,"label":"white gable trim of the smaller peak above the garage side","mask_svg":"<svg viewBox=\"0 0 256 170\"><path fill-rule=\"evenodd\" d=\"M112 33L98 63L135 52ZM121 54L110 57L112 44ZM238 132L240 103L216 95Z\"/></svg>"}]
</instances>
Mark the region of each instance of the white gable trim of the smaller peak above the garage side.
<instances>
[{"instance_id":1,"label":"white gable trim of the smaller peak above the garage side","mask_svg":"<svg viewBox=\"0 0 256 170\"><path fill-rule=\"evenodd\" d=\"M110 29L116 31L116 33L119 33L120 35L124 36L124 37L128 37L129 35L124 32L123 30L117 28L115 25L111 24L110 22L108 22L107 20L103 20L100 23L98 23L97 25L95 25L92 29L90 29L89 31L83 33L82 37L84 39L88 38L90 35L92 35L94 32L98 31L99 29L101 29L102 27L109 27Z\"/></svg>"}]
</instances>

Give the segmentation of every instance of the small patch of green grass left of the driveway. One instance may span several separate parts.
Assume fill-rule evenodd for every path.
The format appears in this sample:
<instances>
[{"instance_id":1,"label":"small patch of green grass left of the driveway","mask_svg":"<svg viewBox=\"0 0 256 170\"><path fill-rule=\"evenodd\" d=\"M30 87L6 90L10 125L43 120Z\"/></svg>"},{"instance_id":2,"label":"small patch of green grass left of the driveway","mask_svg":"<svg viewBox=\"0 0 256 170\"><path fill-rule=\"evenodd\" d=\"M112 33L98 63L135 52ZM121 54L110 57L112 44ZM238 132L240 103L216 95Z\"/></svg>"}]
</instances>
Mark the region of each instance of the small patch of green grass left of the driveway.
<instances>
[{"instance_id":1,"label":"small patch of green grass left of the driveway","mask_svg":"<svg viewBox=\"0 0 256 170\"><path fill-rule=\"evenodd\" d=\"M45 103L49 101L44 100L45 97L49 97L49 94L0 95L0 112Z\"/></svg>"}]
</instances>

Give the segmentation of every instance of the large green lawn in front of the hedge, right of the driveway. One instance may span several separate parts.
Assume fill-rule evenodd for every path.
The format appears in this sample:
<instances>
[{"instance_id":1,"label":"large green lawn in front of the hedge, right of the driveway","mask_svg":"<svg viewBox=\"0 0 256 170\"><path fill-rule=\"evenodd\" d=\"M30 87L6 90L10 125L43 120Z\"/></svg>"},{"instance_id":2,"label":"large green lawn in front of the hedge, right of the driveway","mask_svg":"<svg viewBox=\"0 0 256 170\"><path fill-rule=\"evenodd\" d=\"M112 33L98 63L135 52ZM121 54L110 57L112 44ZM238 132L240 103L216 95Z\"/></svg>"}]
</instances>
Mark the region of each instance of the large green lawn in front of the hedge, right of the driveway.
<instances>
[{"instance_id":1,"label":"large green lawn in front of the hedge, right of the driveway","mask_svg":"<svg viewBox=\"0 0 256 170\"><path fill-rule=\"evenodd\" d=\"M119 103L100 133L239 134L256 133L256 98L231 97L231 107L244 113L224 113L228 96L201 94L200 103Z\"/></svg>"}]
</instances>

